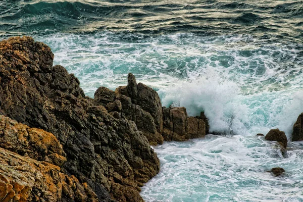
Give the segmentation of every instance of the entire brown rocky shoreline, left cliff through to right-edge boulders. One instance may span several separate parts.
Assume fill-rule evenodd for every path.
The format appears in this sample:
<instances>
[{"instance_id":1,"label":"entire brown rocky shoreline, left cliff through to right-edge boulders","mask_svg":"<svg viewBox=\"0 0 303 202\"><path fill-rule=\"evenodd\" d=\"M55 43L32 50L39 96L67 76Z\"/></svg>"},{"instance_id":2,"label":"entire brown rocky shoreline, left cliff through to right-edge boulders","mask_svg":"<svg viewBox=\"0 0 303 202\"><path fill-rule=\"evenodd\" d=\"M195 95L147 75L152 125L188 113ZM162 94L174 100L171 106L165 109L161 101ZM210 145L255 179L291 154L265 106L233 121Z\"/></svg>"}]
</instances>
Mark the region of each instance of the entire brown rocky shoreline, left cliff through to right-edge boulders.
<instances>
[{"instance_id":1,"label":"entire brown rocky shoreline, left cliff through to right-edge boulders","mask_svg":"<svg viewBox=\"0 0 303 202\"><path fill-rule=\"evenodd\" d=\"M203 112L162 107L132 74L90 98L53 59L31 37L0 42L0 201L143 201L140 187L160 169L150 145L209 133ZM293 141L303 140L301 119ZM286 147L280 132L267 139Z\"/></svg>"}]
</instances>

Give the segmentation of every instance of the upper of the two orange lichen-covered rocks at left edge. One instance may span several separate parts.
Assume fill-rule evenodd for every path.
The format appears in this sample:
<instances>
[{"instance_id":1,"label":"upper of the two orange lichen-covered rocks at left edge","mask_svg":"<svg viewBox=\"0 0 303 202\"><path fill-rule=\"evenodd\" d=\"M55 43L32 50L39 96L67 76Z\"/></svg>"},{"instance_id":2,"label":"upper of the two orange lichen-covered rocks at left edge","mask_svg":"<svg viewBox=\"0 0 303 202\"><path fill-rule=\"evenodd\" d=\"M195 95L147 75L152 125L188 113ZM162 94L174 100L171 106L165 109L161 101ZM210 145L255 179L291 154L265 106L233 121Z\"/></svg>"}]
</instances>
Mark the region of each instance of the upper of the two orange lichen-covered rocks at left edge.
<instances>
[{"instance_id":1,"label":"upper of the two orange lichen-covered rocks at left edge","mask_svg":"<svg viewBox=\"0 0 303 202\"><path fill-rule=\"evenodd\" d=\"M52 134L0 116L0 147L57 166L66 162L62 145Z\"/></svg>"}]
</instances>

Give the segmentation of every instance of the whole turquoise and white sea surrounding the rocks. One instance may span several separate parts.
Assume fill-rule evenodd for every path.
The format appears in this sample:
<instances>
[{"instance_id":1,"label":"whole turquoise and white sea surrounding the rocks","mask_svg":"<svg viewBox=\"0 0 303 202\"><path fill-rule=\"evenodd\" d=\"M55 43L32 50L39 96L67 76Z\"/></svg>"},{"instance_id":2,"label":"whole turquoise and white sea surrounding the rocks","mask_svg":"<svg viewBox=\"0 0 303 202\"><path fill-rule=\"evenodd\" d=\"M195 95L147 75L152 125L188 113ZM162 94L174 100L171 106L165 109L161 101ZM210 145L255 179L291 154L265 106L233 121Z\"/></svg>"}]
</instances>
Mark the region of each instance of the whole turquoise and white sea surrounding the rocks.
<instances>
[{"instance_id":1,"label":"whole turquoise and white sea surrounding the rocks","mask_svg":"<svg viewBox=\"0 0 303 202\"><path fill-rule=\"evenodd\" d=\"M303 1L2 0L0 39L16 35L49 45L88 96L131 72L226 134L156 146L146 201L303 201L303 142L283 156L255 136L290 138L303 112Z\"/></svg>"}]
</instances>

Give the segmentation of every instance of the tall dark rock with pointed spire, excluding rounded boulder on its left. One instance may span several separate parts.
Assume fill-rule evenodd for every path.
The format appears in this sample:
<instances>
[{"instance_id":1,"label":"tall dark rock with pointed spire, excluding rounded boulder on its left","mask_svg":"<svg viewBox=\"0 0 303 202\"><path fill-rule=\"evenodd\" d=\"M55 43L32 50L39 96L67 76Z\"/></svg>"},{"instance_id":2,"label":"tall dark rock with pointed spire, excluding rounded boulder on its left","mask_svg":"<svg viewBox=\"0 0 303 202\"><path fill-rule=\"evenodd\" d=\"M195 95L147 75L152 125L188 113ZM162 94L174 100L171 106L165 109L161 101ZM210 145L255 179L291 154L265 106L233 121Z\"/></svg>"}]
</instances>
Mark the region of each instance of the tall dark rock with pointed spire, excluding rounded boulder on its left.
<instances>
[{"instance_id":1,"label":"tall dark rock with pointed spire, excluding rounded boulder on its left","mask_svg":"<svg viewBox=\"0 0 303 202\"><path fill-rule=\"evenodd\" d=\"M115 94L126 119L136 123L151 145L162 144L163 115L158 93L142 83L137 84L129 73L127 86L118 87Z\"/></svg>"}]
</instances>

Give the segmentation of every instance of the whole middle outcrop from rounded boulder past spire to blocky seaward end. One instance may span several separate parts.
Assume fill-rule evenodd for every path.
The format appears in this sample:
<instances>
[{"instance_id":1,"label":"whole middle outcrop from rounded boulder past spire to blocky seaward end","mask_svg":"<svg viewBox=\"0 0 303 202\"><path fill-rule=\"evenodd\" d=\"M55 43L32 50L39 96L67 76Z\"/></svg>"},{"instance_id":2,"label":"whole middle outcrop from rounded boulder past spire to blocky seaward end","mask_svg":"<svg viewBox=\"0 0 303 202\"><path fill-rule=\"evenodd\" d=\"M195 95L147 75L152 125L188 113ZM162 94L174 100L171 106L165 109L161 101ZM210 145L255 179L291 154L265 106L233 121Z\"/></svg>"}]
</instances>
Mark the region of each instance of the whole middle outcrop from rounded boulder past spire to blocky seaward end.
<instances>
[{"instance_id":1,"label":"whole middle outcrop from rounded boulder past spire to blocky seaward end","mask_svg":"<svg viewBox=\"0 0 303 202\"><path fill-rule=\"evenodd\" d=\"M94 102L115 111L111 113L115 118L134 121L151 145L162 144L163 140L204 137L209 133L208 119L203 112L199 117L188 117L184 107L162 108L158 93L142 83L137 84L131 73L127 86L120 86L115 92L99 87Z\"/></svg>"}]
</instances>

